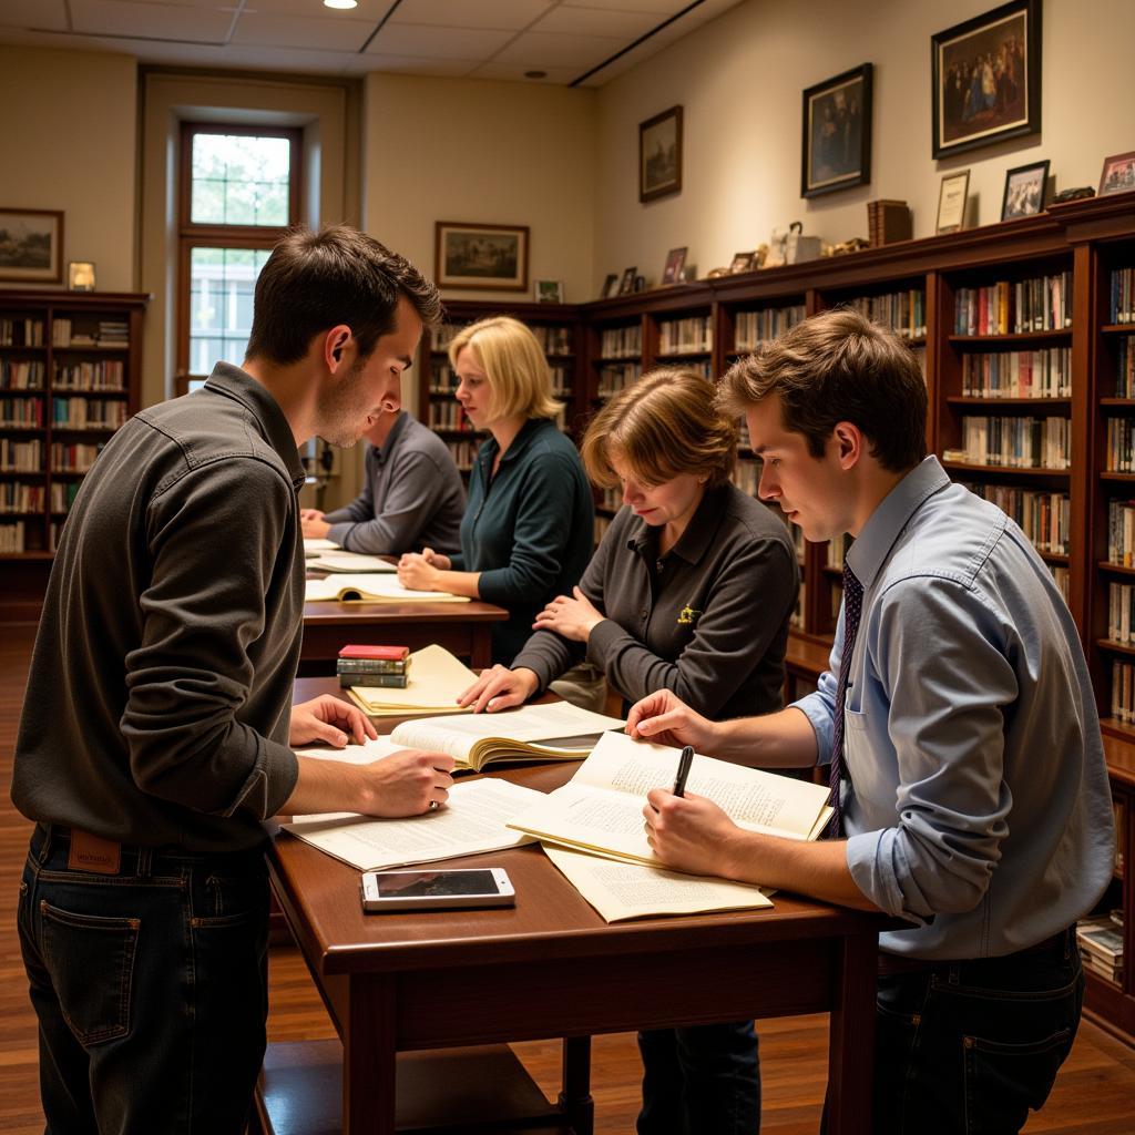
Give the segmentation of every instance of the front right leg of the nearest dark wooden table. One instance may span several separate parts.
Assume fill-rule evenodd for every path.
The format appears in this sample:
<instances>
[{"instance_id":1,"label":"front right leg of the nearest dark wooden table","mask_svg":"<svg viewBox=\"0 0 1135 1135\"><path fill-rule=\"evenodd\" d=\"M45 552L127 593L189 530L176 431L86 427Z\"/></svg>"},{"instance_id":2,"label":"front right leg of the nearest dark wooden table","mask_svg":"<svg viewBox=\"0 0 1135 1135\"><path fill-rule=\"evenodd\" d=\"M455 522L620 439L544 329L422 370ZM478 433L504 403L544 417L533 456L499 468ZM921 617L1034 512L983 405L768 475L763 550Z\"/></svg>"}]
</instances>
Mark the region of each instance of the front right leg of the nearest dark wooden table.
<instances>
[{"instance_id":1,"label":"front right leg of the nearest dark wooden table","mask_svg":"<svg viewBox=\"0 0 1135 1135\"><path fill-rule=\"evenodd\" d=\"M871 1135L872 1069L875 1062L874 936L842 939L827 1054L827 1135Z\"/></svg>"}]
</instances>

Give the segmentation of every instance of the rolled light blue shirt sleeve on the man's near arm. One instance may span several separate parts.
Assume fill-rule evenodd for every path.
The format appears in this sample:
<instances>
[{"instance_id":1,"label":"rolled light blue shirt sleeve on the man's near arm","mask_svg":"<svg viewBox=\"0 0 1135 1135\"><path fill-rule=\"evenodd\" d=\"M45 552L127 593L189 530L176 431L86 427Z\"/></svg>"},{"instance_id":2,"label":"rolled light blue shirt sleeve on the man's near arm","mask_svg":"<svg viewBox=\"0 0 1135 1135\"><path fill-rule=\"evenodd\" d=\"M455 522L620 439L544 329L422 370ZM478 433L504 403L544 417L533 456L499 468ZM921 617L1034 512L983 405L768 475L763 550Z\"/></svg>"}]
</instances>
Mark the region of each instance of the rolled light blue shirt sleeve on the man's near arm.
<instances>
[{"instance_id":1,"label":"rolled light blue shirt sleeve on the man's near arm","mask_svg":"<svg viewBox=\"0 0 1135 1135\"><path fill-rule=\"evenodd\" d=\"M925 922L972 910L1008 834L1002 707L1018 693L1011 632L980 590L938 577L893 585L865 629L866 676L852 700L866 725L865 759L893 754L897 823L851 835L848 867L889 914ZM886 690L885 706L872 700L875 690Z\"/></svg>"}]
</instances>

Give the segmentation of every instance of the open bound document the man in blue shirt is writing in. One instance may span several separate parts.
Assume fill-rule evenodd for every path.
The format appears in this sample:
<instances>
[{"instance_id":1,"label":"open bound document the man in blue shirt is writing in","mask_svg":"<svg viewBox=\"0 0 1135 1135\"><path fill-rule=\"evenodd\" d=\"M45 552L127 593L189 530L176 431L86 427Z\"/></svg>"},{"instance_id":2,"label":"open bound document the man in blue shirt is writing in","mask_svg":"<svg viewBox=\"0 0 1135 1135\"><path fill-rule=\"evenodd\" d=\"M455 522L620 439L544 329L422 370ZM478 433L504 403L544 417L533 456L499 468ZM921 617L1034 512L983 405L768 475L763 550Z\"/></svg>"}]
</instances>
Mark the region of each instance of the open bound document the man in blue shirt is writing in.
<instances>
[{"instance_id":1,"label":"open bound document the man in blue shirt is writing in","mask_svg":"<svg viewBox=\"0 0 1135 1135\"><path fill-rule=\"evenodd\" d=\"M650 789L673 784L679 751L604 733L575 775L512 826L553 843L661 866L647 843L642 806ZM712 757L695 756L687 785L750 832L812 840L831 816L822 785Z\"/></svg>"}]
</instances>

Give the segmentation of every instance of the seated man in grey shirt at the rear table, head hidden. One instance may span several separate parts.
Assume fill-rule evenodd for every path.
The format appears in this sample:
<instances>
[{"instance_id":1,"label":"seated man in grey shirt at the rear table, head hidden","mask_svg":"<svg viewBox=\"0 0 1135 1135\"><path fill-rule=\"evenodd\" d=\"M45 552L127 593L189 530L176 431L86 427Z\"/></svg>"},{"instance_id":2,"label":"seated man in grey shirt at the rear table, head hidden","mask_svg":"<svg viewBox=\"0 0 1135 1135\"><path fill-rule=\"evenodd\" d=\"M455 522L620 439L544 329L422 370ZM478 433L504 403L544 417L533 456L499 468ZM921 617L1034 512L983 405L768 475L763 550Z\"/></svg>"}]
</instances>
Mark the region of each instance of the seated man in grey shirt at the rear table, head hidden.
<instances>
[{"instance_id":1,"label":"seated man in grey shirt at the rear table, head hidden","mask_svg":"<svg viewBox=\"0 0 1135 1135\"><path fill-rule=\"evenodd\" d=\"M457 552L465 489L445 443L404 410L384 413L363 437L362 493L334 512L303 508L304 537L371 555Z\"/></svg>"}]
</instances>

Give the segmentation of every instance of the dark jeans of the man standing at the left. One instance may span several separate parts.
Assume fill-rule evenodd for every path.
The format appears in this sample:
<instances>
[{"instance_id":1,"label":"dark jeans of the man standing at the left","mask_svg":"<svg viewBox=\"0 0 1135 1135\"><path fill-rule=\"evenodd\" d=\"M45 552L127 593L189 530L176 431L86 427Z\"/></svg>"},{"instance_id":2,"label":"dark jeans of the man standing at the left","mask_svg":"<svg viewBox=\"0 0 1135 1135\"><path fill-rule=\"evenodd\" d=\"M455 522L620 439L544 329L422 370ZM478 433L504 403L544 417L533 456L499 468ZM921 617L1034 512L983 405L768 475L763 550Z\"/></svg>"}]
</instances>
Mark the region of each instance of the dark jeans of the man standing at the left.
<instances>
[{"instance_id":1,"label":"dark jeans of the man standing at the left","mask_svg":"<svg viewBox=\"0 0 1135 1135\"><path fill-rule=\"evenodd\" d=\"M48 1135L239 1135L268 1009L262 850L124 847L104 875L68 869L69 842L36 829L17 914Z\"/></svg>"}]
</instances>

